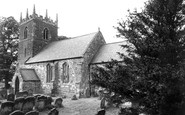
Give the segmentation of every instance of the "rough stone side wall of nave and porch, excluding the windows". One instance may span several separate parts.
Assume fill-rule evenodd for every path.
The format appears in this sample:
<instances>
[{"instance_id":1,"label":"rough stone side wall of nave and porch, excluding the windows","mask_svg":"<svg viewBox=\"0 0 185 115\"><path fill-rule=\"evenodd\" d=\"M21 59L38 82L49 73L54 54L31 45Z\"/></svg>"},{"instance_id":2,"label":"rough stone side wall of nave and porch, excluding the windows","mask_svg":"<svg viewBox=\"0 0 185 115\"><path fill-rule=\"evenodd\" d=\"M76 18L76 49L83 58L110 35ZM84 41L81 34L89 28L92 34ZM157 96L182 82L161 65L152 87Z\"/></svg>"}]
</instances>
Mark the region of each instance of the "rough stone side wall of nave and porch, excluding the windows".
<instances>
[{"instance_id":1,"label":"rough stone side wall of nave and porch, excluding the windows","mask_svg":"<svg viewBox=\"0 0 185 115\"><path fill-rule=\"evenodd\" d=\"M82 58L78 59L69 59L69 60L60 60L54 62L46 62L46 63L36 63L36 64L29 64L29 65L22 65L21 68L32 68L35 69L37 73L40 83L36 83L36 85L40 85L40 89L36 90L37 93L44 93L44 94L51 94L51 90L55 87L57 88L57 94L67 97L72 97L73 95L79 96L80 91L80 82L82 78L81 74L81 66L82 66ZM69 82L63 83L63 68L62 65L64 63L69 65ZM50 83L46 82L46 66L50 64L53 66L53 80ZM20 76L20 75L19 75ZM21 76L20 76L20 79ZM13 84L15 82L15 77L13 79ZM13 86L14 87L14 86ZM20 89L27 90L30 87L35 89L33 82L23 82L21 81Z\"/></svg>"}]
</instances>

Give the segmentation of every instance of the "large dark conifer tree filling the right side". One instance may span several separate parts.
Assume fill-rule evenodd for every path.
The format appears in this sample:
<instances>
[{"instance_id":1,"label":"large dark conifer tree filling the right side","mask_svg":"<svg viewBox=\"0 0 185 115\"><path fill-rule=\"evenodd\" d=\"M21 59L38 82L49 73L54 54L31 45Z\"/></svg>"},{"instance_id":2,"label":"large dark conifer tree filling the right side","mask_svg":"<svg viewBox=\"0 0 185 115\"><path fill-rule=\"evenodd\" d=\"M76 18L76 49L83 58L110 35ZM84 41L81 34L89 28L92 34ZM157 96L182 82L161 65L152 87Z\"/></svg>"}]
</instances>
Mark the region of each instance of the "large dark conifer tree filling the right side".
<instances>
[{"instance_id":1,"label":"large dark conifer tree filling the right side","mask_svg":"<svg viewBox=\"0 0 185 115\"><path fill-rule=\"evenodd\" d=\"M124 86L126 82L126 87L115 86L117 90L108 88L123 97L126 95L131 101L139 101L143 111L152 115L183 115L184 24L183 0L150 0L145 3L142 12L129 12L128 19L119 22L117 27L118 37L127 42L122 47L128 54L120 54L124 64L117 66L113 63L116 65L114 73L107 67L97 67L92 73L92 82L108 87L115 83L109 79L110 76L116 77L111 78L118 86ZM124 79L125 76L128 78ZM103 83L102 78L109 83ZM123 90L122 93L119 89Z\"/></svg>"}]
</instances>

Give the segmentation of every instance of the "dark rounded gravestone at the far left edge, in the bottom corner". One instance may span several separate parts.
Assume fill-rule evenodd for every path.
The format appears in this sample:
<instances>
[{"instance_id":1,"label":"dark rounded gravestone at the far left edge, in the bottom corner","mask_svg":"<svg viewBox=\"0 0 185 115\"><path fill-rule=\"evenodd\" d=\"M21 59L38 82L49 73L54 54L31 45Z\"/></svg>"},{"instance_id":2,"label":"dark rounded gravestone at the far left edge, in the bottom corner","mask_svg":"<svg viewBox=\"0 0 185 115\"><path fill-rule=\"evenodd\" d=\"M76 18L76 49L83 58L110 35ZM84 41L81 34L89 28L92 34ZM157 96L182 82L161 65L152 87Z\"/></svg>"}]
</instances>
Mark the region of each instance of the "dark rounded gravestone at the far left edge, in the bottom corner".
<instances>
[{"instance_id":1,"label":"dark rounded gravestone at the far left edge, in the bottom corner","mask_svg":"<svg viewBox=\"0 0 185 115\"><path fill-rule=\"evenodd\" d=\"M0 115L9 115L13 111L14 103L12 101L6 101L1 104Z\"/></svg>"}]
</instances>

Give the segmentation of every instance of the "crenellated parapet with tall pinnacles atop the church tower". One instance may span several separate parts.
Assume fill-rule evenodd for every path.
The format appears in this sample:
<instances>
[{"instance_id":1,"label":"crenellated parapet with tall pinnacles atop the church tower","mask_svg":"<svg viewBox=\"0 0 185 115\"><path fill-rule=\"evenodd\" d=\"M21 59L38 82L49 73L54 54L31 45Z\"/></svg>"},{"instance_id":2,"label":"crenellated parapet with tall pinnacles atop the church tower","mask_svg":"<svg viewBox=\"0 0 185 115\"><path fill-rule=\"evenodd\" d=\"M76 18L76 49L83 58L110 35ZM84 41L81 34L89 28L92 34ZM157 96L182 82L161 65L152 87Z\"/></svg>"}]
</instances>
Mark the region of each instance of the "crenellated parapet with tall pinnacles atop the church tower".
<instances>
[{"instance_id":1,"label":"crenellated parapet with tall pinnacles atop the church tower","mask_svg":"<svg viewBox=\"0 0 185 115\"><path fill-rule=\"evenodd\" d=\"M45 23L48 23L48 24L51 24L53 26L57 26L58 27L58 14L56 15L56 20L53 21L50 17L48 17L47 10L46 10L46 16L45 17L43 17L42 15L38 15L36 13L36 10L35 10L35 5L33 7L32 15L28 14L28 9L27 9L25 18L22 18L22 13L21 13L21 15L20 15L20 25L22 25L23 23L26 23L26 22L28 22L30 20L33 20L33 19L38 19L38 20L41 20L42 22L45 22Z\"/></svg>"}]
</instances>

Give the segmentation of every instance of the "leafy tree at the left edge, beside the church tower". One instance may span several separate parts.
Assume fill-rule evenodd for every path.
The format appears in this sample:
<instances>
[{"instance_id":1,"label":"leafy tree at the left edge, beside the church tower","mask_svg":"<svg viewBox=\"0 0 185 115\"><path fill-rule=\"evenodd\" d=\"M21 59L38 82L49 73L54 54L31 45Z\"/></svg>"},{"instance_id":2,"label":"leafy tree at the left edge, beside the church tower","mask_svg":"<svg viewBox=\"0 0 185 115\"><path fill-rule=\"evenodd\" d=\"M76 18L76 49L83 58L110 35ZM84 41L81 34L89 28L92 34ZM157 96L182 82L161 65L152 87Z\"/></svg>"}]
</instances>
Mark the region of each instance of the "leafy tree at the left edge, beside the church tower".
<instances>
[{"instance_id":1,"label":"leafy tree at the left edge, beside the church tower","mask_svg":"<svg viewBox=\"0 0 185 115\"><path fill-rule=\"evenodd\" d=\"M18 22L13 17L2 18L0 23L0 79L12 79L18 50Z\"/></svg>"}]
</instances>

